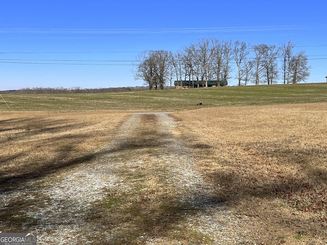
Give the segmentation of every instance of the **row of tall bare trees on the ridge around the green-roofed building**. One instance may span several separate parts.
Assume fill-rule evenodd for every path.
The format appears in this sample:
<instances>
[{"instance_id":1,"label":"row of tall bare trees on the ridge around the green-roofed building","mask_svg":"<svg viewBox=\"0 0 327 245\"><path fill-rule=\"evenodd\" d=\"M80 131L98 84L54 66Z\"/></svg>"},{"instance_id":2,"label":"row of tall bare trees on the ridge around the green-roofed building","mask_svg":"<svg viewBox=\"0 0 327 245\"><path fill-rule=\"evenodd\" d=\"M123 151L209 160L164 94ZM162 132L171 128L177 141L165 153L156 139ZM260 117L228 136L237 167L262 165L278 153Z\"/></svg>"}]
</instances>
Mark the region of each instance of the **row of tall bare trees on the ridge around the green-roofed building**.
<instances>
[{"instance_id":1,"label":"row of tall bare trees on the ridge around the green-roofed building","mask_svg":"<svg viewBox=\"0 0 327 245\"><path fill-rule=\"evenodd\" d=\"M305 81L310 76L304 51L294 53L295 44L250 45L219 38L202 38L176 53L145 51L136 57L135 80L143 80L149 89L163 89L173 80L197 81L207 87L211 80L228 80L237 70L238 85L253 83L284 84ZM199 87L199 86L198 86Z\"/></svg>"}]
</instances>

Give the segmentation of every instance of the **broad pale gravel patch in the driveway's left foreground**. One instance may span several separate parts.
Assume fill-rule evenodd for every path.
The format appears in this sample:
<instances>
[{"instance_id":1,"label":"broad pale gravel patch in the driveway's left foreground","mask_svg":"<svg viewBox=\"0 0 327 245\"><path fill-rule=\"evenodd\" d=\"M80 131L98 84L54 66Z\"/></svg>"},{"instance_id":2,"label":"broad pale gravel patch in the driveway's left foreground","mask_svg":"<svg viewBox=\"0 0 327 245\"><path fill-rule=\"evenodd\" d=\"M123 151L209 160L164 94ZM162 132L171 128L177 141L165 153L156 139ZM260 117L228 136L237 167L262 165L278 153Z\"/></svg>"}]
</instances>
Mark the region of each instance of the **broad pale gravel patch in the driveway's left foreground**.
<instances>
[{"instance_id":1,"label":"broad pale gravel patch in the driveway's left foreground","mask_svg":"<svg viewBox=\"0 0 327 245\"><path fill-rule=\"evenodd\" d=\"M4 212L17 200L33 202L20 212L28 219L36 219L37 225L22 229L37 232L38 244L70 244L69 240L81 240L78 232L83 230L85 213L92 203L104 198L104 188L114 188L118 184L119 180L109 169L96 160L3 192L0 211ZM6 223L2 220L0 229L8 225Z\"/></svg>"}]
</instances>

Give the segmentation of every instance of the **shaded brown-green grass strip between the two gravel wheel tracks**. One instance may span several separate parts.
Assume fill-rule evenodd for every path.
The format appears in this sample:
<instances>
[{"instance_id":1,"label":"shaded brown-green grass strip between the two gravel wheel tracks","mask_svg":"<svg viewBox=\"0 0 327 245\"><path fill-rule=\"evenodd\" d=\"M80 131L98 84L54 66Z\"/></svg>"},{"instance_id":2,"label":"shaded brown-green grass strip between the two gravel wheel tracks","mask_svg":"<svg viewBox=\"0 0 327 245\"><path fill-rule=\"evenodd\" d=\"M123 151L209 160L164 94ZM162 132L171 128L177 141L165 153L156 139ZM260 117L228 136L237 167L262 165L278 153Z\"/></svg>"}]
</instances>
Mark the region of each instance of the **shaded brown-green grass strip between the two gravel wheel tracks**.
<instances>
[{"instance_id":1,"label":"shaded brown-green grass strip between the two gravel wheel tracks","mask_svg":"<svg viewBox=\"0 0 327 245\"><path fill-rule=\"evenodd\" d=\"M141 156L151 156L154 159L162 154L165 156L178 155L180 151L183 155L192 152L195 148L208 148L203 144L194 144L193 149L190 149L187 143L176 145L171 141L173 136L169 131L157 132L153 127L157 125L156 116L143 115L142 119L142 124L145 121L150 121L152 124L136 128L127 141L114 149L116 153L119 153L119 157L124 159L126 151L129 150L132 150L133 153L140 153ZM177 149L174 148L176 146ZM127 156L126 160L133 160L128 158ZM149 170L149 168L153 168L153 170ZM160 173L161 168L162 166L155 166L154 161L153 165L150 163L146 166L147 170L143 168L126 168L124 170L124 176L132 181L132 187L129 188L135 188L135 190L129 190L126 193L108 192L107 199L102 200L94 209L90 210L87 221L92 224L95 231L109 234L101 240L99 237L90 235L88 240L92 241L92 244L137 244L163 237L168 241L180 243L184 242L186 237L190 237L190 242L195 242L194 244L203 242L205 235L197 231L195 227L188 226L185 220L198 212L211 208L222 208L222 203L205 192L185 191L184 194L181 194L174 188L169 188L166 183L170 181L169 174L166 171L166 174ZM162 178L161 175L165 175L165 177ZM134 176L141 176L141 180L133 179ZM164 188L165 191L157 190L155 186L151 187L144 183L154 176L160 186L162 184L167 188Z\"/></svg>"}]
</instances>

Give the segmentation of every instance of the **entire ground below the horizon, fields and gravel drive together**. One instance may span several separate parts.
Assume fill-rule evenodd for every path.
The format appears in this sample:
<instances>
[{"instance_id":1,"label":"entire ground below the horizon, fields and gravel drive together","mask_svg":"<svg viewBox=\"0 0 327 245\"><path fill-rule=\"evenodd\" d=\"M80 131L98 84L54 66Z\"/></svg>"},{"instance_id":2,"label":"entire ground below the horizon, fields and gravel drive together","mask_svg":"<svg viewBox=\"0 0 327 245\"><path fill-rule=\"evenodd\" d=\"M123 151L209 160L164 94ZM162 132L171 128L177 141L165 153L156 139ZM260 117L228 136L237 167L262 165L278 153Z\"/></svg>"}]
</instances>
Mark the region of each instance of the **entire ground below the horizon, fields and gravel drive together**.
<instances>
[{"instance_id":1,"label":"entire ground below the horizon, fields and gravel drive together","mask_svg":"<svg viewBox=\"0 0 327 245\"><path fill-rule=\"evenodd\" d=\"M327 240L327 84L5 94L4 100L2 232L36 231L40 244ZM83 185L94 201L76 211L78 201L63 204L48 189L58 186L72 195L66 200L75 198L64 183L78 169L90 172ZM112 173L124 190L113 184L102 196L88 187ZM74 188L82 190L78 182ZM81 220L90 230L69 233Z\"/></svg>"}]
</instances>

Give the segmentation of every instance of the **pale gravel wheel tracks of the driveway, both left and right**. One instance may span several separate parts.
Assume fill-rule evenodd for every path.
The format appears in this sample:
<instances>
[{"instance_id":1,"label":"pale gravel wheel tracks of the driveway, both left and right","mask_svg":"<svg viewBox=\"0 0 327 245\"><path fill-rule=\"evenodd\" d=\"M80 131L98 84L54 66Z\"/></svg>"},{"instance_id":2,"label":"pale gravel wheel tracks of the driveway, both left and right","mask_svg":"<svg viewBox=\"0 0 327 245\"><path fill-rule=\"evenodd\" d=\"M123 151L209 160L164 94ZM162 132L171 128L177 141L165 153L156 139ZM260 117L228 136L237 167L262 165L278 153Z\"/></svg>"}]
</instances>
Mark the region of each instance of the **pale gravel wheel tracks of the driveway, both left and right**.
<instances>
[{"instance_id":1,"label":"pale gravel wheel tracks of the driveway, both left and right","mask_svg":"<svg viewBox=\"0 0 327 245\"><path fill-rule=\"evenodd\" d=\"M131 193L131 180L121 173L131 172L147 161L151 162L148 167L157 177L165 178L165 184L176 193L176 202L185 207L185 212L181 214L183 219L177 220L173 226L186 223L189 230L203 234L203 241L198 244L252 244L247 242L249 234L244 232L249 225L248 218L232 214L224 204L213 198L212 187L197 172L192 150L176 136L177 122L168 113L153 116L158 135L161 135L158 138L159 153L149 154L145 160L133 155L133 150L124 150L145 115L149 114L131 114L115 140L99 149L96 152L98 157L91 162L27 181L19 187L9 186L6 190L0 190L0 212L5 212L17 201L29 203L28 206L23 205L17 215L26 215L27 221L23 222L26 225L22 229L37 232L38 244L94 244L90 236L85 235L90 232L93 239L101 236L105 243L115 244L117 234L124 229L123 224L107 232L103 232L105 228L97 232L88 223L87 213L95 203L106 199L108 190L124 191L127 195ZM120 154L131 154L133 157L127 161ZM36 221L31 223L28 221L31 219ZM9 224L10 220L1 220L0 230ZM138 241L143 244L188 243L187 238L172 241L164 236L150 237L147 234L140 234ZM120 243L124 244L122 241ZM126 241L126 244L132 243Z\"/></svg>"}]
</instances>

